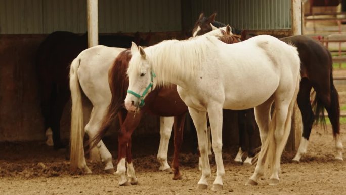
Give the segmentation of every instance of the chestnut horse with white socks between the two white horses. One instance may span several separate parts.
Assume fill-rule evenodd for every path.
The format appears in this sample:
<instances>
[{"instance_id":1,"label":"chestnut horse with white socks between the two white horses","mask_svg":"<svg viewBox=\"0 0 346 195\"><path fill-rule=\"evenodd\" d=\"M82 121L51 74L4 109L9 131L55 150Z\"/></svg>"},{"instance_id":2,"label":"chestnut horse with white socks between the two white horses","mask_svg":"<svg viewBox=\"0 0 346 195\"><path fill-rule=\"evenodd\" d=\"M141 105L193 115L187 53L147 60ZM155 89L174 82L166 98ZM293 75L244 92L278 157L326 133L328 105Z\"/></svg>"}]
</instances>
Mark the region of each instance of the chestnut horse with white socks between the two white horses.
<instances>
[{"instance_id":1,"label":"chestnut horse with white socks between the two white horses","mask_svg":"<svg viewBox=\"0 0 346 195\"><path fill-rule=\"evenodd\" d=\"M183 128L185 122L185 115L187 112L187 106L181 100L177 93L176 86L156 88L150 95L144 100L145 105L141 112L136 114L129 112L123 107L123 102L126 96L126 90L128 88L128 77L126 70L128 62L131 59L131 51L125 50L117 56L115 62L109 69L108 81L110 91L112 94L111 103L108 107L108 111L104 116L102 126L99 134L95 138L95 143L98 143L103 135L110 127L111 122L116 118L116 115L120 121L121 128L118 134L118 165L116 174L120 176L119 185L136 184L137 178L135 176L135 170L132 164L131 157L131 135L135 128L138 126L143 113L147 112L159 116L174 116L174 159L172 163L172 169L174 171L174 179L181 179L179 172L178 155L181 146L181 140L183 136ZM161 125L163 125L161 121ZM170 127L171 128L171 127ZM168 144L170 137L169 128L162 137L167 137L165 140ZM166 148L163 148L166 147ZM166 146L160 147L159 150L166 150ZM126 162L124 159L126 158ZM160 159L160 157L158 157ZM161 157L164 158L164 157ZM166 158L166 157L165 157ZM127 176L125 175L127 163Z\"/></svg>"}]
</instances>

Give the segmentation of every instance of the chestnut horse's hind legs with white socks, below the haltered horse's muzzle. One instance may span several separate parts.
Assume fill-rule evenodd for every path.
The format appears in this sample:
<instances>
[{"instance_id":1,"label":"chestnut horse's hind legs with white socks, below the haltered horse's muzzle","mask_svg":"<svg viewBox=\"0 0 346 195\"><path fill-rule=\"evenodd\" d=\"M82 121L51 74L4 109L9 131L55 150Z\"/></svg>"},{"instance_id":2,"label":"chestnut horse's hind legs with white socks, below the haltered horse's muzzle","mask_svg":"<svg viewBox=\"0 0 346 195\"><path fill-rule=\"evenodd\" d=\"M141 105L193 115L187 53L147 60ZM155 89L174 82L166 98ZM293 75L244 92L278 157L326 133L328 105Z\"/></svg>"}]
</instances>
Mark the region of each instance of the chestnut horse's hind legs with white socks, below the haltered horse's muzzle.
<instances>
[{"instance_id":1,"label":"chestnut horse's hind legs with white socks, below the haltered horse's muzzle","mask_svg":"<svg viewBox=\"0 0 346 195\"><path fill-rule=\"evenodd\" d=\"M122 110L124 111L124 110ZM131 135L134 131L134 129L138 126L139 122L141 121L143 112L137 112L136 115L133 112L128 112L126 115L126 119L124 121L124 123L121 125L120 127L120 132L118 134L118 166L117 166L117 170L116 170L116 175L120 176L120 180L119 180L119 185L129 185L130 183L127 181L125 172L126 172L126 166L125 166L125 158L130 157L129 159L127 159L127 163L129 165L129 170L128 172L130 172L131 174L129 176L131 176L132 178L130 178L130 182L137 182L137 179L135 178L135 171L133 169L133 165L132 165L132 159L131 159L131 151L129 151L129 149L131 149L131 146L128 147L129 145L131 145L130 141L131 141ZM128 154L126 154L126 152L128 152Z\"/></svg>"}]
</instances>

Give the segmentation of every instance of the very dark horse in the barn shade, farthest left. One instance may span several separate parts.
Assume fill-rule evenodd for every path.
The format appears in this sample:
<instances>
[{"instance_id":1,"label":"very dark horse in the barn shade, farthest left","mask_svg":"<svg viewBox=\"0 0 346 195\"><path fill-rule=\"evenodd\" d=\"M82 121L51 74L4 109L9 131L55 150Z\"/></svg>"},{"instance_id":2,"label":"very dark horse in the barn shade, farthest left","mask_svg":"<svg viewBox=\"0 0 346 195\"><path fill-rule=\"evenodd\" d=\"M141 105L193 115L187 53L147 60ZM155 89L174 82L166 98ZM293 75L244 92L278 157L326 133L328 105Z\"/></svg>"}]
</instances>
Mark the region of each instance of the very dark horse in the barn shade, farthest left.
<instances>
[{"instance_id":1,"label":"very dark horse in the barn shade, farthest left","mask_svg":"<svg viewBox=\"0 0 346 195\"><path fill-rule=\"evenodd\" d=\"M123 35L99 36L101 45L128 48L131 42L147 45L147 40ZM78 54L88 48L87 36L72 32L57 31L48 35L40 44L36 56L36 70L41 96L41 111L45 130L53 132L54 148L64 145L60 139L60 119L65 104L69 100L69 65ZM48 131L49 132L49 131ZM48 143L53 145L53 143Z\"/></svg>"}]
</instances>

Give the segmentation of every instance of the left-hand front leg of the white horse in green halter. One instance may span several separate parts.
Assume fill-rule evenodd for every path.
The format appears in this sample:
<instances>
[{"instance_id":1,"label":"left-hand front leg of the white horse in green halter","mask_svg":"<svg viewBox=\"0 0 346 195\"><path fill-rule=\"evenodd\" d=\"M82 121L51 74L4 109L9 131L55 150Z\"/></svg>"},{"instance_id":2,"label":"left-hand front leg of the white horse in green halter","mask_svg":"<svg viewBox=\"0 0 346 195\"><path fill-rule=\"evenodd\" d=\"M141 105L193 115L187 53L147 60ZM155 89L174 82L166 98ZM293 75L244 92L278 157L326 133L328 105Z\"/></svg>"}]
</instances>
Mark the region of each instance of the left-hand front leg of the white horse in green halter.
<instances>
[{"instance_id":1,"label":"left-hand front leg of the white horse in green halter","mask_svg":"<svg viewBox=\"0 0 346 195\"><path fill-rule=\"evenodd\" d=\"M210 177L210 164L208 158L208 138L206 125L206 112L189 107L189 113L195 124L198 138L198 148L201 155L202 176L198 181L198 189L208 188L208 178Z\"/></svg>"}]
</instances>

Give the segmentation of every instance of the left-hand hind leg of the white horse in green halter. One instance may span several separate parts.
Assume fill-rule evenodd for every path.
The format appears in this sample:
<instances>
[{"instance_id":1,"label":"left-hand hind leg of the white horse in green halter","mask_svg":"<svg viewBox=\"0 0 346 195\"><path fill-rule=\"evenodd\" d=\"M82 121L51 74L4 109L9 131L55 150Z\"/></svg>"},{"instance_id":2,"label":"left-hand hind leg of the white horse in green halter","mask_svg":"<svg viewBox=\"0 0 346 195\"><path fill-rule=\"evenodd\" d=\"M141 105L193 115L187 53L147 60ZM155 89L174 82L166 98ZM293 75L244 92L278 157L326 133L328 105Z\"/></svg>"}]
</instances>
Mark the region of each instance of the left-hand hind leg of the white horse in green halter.
<instances>
[{"instance_id":1,"label":"left-hand hind leg of the white horse in green halter","mask_svg":"<svg viewBox=\"0 0 346 195\"><path fill-rule=\"evenodd\" d=\"M257 122L258 128L260 129L260 137L261 137L262 145L264 144L267 138L269 123L271 122L270 109L271 109L272 103L273 103L273 98L271 97L263 104L254 108L256 122ZM262 152L263 152L263 147L261 147L261 151L257 160L255 171L253 172L252 176L250 177L246 185L258 185L258 179L260 179L263 176L264 170L263 170L263 158L261 155Z\"/></svg>"}]
</instances>

